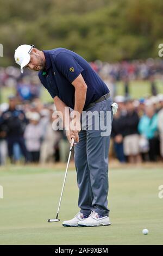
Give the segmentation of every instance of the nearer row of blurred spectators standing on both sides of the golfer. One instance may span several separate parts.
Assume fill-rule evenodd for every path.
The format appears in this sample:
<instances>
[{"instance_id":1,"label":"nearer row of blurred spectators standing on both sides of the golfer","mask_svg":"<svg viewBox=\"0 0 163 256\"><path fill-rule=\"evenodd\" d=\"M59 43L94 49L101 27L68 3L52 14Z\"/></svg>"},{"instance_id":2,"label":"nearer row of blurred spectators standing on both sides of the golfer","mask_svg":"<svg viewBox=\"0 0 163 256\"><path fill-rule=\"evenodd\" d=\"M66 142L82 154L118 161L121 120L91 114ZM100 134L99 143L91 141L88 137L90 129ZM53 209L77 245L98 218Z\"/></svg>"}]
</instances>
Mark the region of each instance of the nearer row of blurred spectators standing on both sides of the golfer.
<instances>
[{"instance_id":1,"label":"nearer row of blurred spectators standing on both sides of the golfer","mask_svg":"<svg viewBox=\"0 0 163 256\"><path fill-rule=\"evenodd\" d=\"M116 96L118 111L111 132L111 155L120 162L140 163L163 159L163 94L132 100ZM39 98L0 105L0 163L67 161L69 143L65 131L55 130L54 104Z\"/></svg>"}]
</instances>

